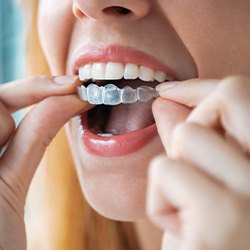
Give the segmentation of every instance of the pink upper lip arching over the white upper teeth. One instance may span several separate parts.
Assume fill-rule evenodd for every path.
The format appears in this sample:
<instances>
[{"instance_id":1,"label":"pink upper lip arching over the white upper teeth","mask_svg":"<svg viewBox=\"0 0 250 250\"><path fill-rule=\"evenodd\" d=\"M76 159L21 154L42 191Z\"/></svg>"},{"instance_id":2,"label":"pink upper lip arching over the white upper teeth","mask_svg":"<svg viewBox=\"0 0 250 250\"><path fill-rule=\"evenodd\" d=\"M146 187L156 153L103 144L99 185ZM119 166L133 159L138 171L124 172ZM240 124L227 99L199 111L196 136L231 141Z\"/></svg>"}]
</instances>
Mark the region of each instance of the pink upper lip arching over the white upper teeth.
<instances>
[{"instance_id":1,"label":"pink upper lip arching over the white upper teeth","mask_svg":"<svg viewBox=\"0 0 250 250\"><path fill-rule=\"evenodd\" d=\"M108 46L84 46L73 56L71 71L78 74L81 66L94 62L119 62L133 63L165 72L167 75L178 79L178 76L169 66L156 57L132 47L112 44Z\"/></svg>"}]
</instances>

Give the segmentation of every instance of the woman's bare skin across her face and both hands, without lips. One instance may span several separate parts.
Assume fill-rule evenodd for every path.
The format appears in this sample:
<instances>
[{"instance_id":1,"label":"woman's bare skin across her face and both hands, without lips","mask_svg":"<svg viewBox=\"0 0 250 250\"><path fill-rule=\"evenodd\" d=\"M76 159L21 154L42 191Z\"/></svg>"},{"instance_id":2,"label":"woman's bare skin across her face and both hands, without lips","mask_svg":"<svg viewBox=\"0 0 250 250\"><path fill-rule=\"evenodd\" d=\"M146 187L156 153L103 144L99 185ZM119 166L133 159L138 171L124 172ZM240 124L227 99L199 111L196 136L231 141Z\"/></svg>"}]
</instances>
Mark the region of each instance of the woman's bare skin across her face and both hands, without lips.
<instances>
[{"instance_id":1,"label":"woman's bare skin across her face and both hands, without lips","mask_svg":"<svg viewBox=\"0 0 250 250\"><path fill-rule=\"evenodd\" d=\"M114 5L126 7L132 15L119 19L114 12L102 12ZM99 41L140 48L170 65L182 80L158 87L161 98L154 102L153 114L160 137L126 159L105 160L108 166L119 163L121 169L127 164L138 166L132 179L126 175L103 178L102 171L91 171L88 163L101 164L102 160L80 147L77 120L68 125L76 168L90 204L107 217L135 220L145 216L143 193L148 188L147 215L165 232L164 250L174 246L222 250L249 246L249 9L250 2L244 0L40 1L39 34L52 74L69 73L75 48ZM111 33L115 35L103 35ZM184 81L197 76L198 80ZM18 249L25 249L23 206L36 166L60 126L88 108L75 96L65 96L72 93L73 85L48 91L53 80L43 79L41 97L36 80L16 84L27 83L32 87L23 97L16 85L0 89L4 90L0 91L0 115L5 121L0 145L14 133L0 161L0 242L4 249L17 249L13 242ZM39 104L15 131L10 112L34 102ZM67 110L55 112L63 102L67 102ZM51 112L44 111L48 105L53 107ZM52 115L55 113L58 117ZM36 116L39 124L33 119ZM43 136L37 138L30 131ZM37 154L32 154L33 161L27 166L25 154L34 147ZM147 180L147 165L161 152L163 156L151 163ZM140 160L140 154L146 156L145 161ZM24 171L24 164L30 171ZM20 183L16 176L24 181ZM138 197L138 193L142 195ZM122 197L119 202L117 197ZM8 230L15 232L11 234L14 240Z\"/></svg>"}]
</instances>

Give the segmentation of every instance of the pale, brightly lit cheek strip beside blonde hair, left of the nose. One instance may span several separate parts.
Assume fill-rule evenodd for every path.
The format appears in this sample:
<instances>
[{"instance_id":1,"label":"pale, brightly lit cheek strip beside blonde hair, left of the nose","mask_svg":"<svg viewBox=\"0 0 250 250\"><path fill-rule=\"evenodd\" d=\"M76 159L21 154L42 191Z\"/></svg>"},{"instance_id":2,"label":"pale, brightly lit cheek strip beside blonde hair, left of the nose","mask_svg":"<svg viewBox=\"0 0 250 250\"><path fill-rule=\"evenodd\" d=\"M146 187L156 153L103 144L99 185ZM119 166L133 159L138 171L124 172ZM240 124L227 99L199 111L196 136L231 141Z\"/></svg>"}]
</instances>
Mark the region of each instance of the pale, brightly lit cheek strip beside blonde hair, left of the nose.
<instances>
[{"instance_id":1,"label":"pale, brightly lit cheek strip beside blonde hair, left of the nose","mask_svg":"<svg viewBox=\"0 0 250 250\"><path fill-rule=\"evenodd\" d=\"M65 74L73 25L71 1L40 0L38 35L53 75Z\"/></svg>"}]
</instances>

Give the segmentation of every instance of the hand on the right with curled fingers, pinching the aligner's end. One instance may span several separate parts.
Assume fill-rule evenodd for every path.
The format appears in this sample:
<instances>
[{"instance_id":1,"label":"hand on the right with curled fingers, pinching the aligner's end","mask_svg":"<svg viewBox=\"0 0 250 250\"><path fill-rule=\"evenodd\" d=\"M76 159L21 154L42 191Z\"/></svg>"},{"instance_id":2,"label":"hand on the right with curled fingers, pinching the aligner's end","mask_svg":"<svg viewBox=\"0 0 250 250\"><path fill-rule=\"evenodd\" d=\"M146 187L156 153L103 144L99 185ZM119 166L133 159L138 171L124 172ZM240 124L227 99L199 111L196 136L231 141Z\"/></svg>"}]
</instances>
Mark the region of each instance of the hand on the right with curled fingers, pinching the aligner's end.
<instances>
[{"instance_id":1,"label":"hand on the right with curled fingers, pinching the aligner's end","mask_svg":"<svg viewBox=\"0 0 250 250\"><path fill-rule=\"evenodd\" d=\"M163 84L153 112L167 156L149 171L147 210L162 248L249 249L250 79ZM169 140L164 105L192 112Z\"/></svg>"}]
</instances>

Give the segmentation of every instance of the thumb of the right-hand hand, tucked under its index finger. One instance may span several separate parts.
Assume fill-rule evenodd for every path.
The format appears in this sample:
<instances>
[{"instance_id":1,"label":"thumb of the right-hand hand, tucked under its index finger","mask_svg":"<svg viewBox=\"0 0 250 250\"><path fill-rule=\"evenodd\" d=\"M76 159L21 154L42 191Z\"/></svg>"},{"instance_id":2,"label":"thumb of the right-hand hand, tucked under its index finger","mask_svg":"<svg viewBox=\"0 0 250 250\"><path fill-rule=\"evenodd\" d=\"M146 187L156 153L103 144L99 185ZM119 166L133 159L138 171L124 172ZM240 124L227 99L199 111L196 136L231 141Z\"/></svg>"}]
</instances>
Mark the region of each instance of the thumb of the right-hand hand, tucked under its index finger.
<instances>
[{"instance_id":1,"label":"thumb of the right-hand hand, tucked under its index finger","mask_svg":"<svg viewBox=\"0 0 250 250\"><path fill-rule=\"evenodd\" d=\"M187 118L190 109L183 105L158 98L153 103L152 110L158 133L167 150L170 144L173 127Z\"/></svg>"}]
</instances>

